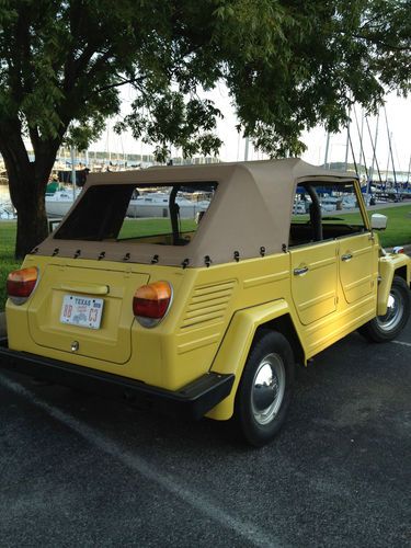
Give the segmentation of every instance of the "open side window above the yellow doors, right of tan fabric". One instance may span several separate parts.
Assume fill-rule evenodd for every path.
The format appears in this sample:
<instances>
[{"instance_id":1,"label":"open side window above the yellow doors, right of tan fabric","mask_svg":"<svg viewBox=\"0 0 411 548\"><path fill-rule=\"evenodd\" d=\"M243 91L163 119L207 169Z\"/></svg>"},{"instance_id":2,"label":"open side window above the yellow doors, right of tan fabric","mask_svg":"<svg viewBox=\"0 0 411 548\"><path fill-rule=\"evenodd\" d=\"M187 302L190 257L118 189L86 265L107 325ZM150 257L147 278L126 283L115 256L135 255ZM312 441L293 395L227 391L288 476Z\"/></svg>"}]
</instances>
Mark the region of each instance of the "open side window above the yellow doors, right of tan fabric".
<instances>
[{"instance_id":1,"label":"open side window above the yellow doors, right of tan fabric","mask_svg":"<svg viewBox=\"0 0 411 548\"><path fill-rule=\"evenodd\" d=\"M300 183L294 198L289 247L366 230L353 184Z\"/></svg>"}]
</instances>

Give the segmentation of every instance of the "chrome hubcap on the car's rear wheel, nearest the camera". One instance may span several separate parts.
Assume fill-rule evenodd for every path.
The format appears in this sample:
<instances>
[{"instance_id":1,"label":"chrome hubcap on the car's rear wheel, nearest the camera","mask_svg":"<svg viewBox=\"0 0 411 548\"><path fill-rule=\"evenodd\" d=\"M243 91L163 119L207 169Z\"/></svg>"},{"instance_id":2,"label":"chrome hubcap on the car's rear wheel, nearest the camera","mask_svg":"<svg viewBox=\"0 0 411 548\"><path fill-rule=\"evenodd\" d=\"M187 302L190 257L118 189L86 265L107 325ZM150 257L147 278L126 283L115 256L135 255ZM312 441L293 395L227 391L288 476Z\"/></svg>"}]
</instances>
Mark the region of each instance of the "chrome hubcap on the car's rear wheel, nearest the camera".
<instances>
[{"instance_id":1,"label":"chrome hubcap on the car's rear wheel, nearest the camera","mask_svg":"<svg viewBox=\"0 0 411 548\"><path fill-rule=\"evenodd\" d=\"M253 378L251 410L259 424L267 424L277 414L285 392L285 368L278 354L265 356Z\"/></svg>"}]
</instances>

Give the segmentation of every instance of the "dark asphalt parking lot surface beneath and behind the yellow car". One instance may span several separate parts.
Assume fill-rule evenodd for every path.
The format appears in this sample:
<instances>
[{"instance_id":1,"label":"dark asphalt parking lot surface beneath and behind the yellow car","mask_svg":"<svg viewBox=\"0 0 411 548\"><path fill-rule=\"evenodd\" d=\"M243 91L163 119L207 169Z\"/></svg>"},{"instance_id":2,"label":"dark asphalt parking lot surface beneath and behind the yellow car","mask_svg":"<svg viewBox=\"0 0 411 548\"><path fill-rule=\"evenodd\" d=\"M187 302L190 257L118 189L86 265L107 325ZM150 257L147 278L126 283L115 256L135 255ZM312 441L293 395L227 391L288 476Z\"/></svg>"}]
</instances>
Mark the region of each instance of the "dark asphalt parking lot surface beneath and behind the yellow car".
<instances>
[{"instance_id":1,"label":"dark asphalt parking lot surface beneath and behind the yellow car","mask_svg":"<svg viewBox=\"0 0 411 548\"><path fill-rule=\"evenodd\" d=\"M0 373L0 543L411 546L411 322L298 370L277 439Z\"/></svg>"}]
</instances>

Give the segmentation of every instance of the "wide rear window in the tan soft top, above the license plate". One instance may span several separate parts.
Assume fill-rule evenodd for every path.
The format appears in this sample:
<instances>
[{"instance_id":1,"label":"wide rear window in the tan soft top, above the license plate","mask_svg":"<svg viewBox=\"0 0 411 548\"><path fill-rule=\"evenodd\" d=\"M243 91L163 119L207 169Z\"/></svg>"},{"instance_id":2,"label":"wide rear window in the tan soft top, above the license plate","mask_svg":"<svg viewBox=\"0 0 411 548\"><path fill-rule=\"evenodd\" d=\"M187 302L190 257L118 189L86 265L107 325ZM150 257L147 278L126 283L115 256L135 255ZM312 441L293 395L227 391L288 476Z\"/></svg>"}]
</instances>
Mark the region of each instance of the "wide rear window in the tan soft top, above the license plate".
<instances>
[{"instance_id":1,"label":"wide rear window in the tan soft top, above the license plate","mask_svg":"<svg viewBox=\"0 0 411 548\"><path fill-rule=\"evenodd\" d=\"M216 182L91 186L54 238L185 246L193 239L216 189Z\"/></svg>"}]
</instances>

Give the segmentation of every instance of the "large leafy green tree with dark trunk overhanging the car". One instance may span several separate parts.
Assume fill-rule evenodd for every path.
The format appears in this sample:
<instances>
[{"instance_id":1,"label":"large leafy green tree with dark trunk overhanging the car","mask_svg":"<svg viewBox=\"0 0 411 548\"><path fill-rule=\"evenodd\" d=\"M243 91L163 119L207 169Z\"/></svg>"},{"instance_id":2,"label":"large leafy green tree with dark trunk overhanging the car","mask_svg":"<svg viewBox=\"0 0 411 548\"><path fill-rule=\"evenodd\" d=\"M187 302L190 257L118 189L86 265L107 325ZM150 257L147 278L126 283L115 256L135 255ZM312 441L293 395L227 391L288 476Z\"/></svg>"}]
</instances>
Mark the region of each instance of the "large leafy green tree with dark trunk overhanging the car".
<instances>
[{"instance_id":1,"label":"large leafy green tree with dark trunk overhanging the car","mask_svg":"<svg viewBox=\"0 0 411 548\"><path fill-rule=\"evenodd\" d=\"M46 236L58 148L84 148L119 113L121 85L137 99L118 130L130 127L161 159L170 144L187 157L218 152L222 113L197 93L219 80L256 147L299 153L302 129L336 130L351 103L375 110L386 88L409 90L406 15L403 0L2 0L0 152L16 256Z\"/></svg>"}]
</instances>

